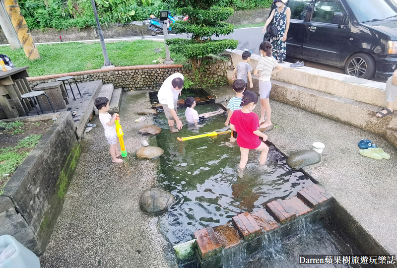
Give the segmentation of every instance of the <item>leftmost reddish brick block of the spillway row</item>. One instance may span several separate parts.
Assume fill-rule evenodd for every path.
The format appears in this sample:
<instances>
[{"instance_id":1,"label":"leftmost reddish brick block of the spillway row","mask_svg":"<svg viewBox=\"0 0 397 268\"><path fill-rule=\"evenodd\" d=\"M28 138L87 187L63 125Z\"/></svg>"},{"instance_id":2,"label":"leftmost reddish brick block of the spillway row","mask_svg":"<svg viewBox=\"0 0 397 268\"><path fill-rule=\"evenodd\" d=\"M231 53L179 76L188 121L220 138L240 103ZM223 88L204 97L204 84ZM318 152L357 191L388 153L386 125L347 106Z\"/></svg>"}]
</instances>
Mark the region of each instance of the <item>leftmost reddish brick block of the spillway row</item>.
<instances>
[{"instance_id":1,"label":"leftmost reddish brick block of the spillway row","mask_svg":"<svg viewBox=\"0 0 397 268\"><path fill-rule=\"evenodd\" d=\"M206 227L195 232L199 258L208 259L222 252L222 246L218 241L212 227Z\"/></svg>"}]
</instances>

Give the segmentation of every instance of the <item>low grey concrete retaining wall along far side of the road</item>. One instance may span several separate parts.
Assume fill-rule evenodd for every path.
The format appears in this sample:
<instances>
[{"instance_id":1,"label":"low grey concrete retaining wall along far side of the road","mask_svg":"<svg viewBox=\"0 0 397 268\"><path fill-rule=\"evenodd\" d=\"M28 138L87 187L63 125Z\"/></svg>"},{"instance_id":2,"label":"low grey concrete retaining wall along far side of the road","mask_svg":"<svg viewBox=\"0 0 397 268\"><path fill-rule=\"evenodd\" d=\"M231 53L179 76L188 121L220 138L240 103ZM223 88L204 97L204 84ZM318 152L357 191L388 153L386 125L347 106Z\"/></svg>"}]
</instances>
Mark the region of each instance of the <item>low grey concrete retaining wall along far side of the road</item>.
<instances>
[{"instance_id":1,"label":"low grey concrete retaining wall along far side of the road","mask_svg":"<svg viewBox=\"0 0 397 268\"><path fill-rule=\"evenodd\" d=\"M256 10L240 10L235 11L232 16L230 16L226 22L232 23L234 25L245 25L265 22L268 17L270 8L256 9ZM105 38L114 37L125 37L125 36L139 36L148 35L147 25L126 25L124 27L116 25L102 25L101 26L103 35ZM48 29L31 29L33 40L36 43L41 42L60 42L59 37L62 36L63 41L80 41L80 40L92 40L98 39L98 35L94 27L86 27L83 29L78 29L77 27L72 27L67 30L56 30L52 28ZM0 28L0 44L8 44L1 28Z\"/></svg>"}]
</instances>

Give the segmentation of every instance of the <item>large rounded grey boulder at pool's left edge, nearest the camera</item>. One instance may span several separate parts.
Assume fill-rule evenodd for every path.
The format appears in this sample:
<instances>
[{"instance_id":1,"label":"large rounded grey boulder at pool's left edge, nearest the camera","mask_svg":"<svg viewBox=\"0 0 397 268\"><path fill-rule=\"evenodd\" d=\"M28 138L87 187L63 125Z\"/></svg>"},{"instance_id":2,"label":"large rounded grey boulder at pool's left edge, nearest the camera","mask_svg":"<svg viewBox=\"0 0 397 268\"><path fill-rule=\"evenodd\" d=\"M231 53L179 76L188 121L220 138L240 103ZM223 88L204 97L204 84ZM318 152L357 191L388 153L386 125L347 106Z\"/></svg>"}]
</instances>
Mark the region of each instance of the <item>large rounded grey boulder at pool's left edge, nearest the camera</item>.
<instances>
[{"instance_id":1,"label":"large rounded grey boulder at pool's left edge, nearest the camera","mask_svg":"<svg viewBox=\"0 0 397 268\"><path fill-rule=\"evenodd\" d=\"M175 197L160 188L143 191L140 196L140 208L147 213L159 213L175 203Z\"/></svg>"}]
</instances>

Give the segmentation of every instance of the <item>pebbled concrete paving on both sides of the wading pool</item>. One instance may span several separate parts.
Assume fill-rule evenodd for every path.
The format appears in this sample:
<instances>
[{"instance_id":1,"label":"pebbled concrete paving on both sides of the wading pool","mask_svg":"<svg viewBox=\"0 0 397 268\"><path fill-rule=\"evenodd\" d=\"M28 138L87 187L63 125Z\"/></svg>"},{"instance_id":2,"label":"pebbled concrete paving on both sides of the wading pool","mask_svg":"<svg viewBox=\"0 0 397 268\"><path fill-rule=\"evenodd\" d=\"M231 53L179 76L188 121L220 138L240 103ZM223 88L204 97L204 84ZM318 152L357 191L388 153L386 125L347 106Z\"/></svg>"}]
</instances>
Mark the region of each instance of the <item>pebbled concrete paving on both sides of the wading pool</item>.
<instances>
[{"instance_id":1,"label":"pebbled concrete paving on both sides of the wading pool","mask_svg":"<svg viewBox=\"0 0 397 268\"><path fill-rule=\"evenodd\" d=\"M218 100L228 99L232 91L223 87L215 95ZM156 161L134 158L142 138L137 130L151 119L132 121L137 118L136 111L147 104L146 92L123 95L121 123L129 161L121 165L110 163L102 127L94 120L98 127L81 142L81 158L47 251L40 258L42 267L175 267L172 248L158 231L157 217L142 213L138 206L141 192L155 184L158 169ZM396 148L376 134L279 102L270 104L276 128L269 133L269 140L287 155L311 149L314 141L323 142L322 162L305 171L395 254ZM371 139L392 158L361 156L357 142L362 138Z\"/></svg>"}]
</instances>

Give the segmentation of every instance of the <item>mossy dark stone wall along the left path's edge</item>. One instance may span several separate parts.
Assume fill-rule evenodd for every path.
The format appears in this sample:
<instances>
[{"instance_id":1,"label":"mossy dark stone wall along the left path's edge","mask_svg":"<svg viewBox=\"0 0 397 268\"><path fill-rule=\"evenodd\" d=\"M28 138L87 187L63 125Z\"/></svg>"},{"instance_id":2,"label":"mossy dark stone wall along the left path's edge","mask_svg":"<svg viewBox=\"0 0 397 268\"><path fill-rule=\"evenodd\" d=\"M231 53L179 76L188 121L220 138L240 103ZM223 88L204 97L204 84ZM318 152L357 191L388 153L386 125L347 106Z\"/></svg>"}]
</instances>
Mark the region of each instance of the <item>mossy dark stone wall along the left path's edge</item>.
<instances>
[{"instance_id":1,"label":"mossy dark stone wall along the left path's edge","mask_svg":"<svg viewBox=\"0 0 397 268\"><path fill-rule=\"evenodd\" d=\"M4 187L0 235L43 254L80 156L71 114L61 113Z\"/></svg>"}]
</instances>

